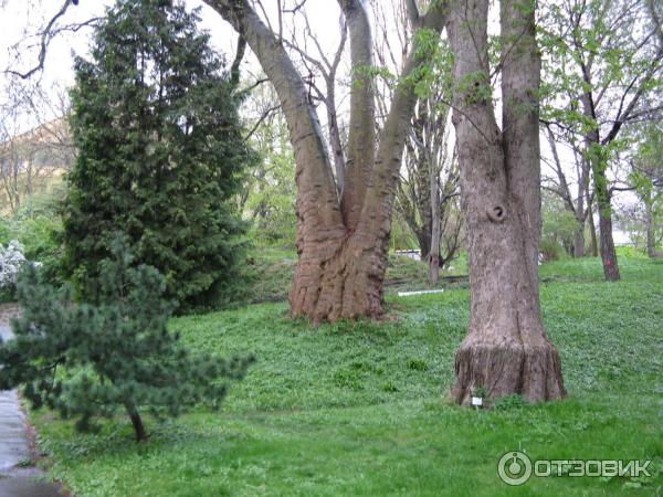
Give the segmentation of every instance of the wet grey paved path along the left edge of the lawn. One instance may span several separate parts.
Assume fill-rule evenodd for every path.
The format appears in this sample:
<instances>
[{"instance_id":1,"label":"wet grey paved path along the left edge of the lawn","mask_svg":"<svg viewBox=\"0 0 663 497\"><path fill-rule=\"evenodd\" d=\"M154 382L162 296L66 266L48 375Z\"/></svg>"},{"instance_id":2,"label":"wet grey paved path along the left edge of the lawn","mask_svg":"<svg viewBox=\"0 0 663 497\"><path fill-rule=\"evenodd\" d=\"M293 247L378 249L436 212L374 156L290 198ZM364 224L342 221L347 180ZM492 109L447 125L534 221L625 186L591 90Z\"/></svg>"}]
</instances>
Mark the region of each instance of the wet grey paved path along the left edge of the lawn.
<instances>
[{"instance_id":1,"label":"wet grey paved path along the left edge of the lawn","mask_svg":"<svg viewBox=\"0 0 663 497\"><path fill-rule=\"evenodd\" d=\"M0 336L11 338L7 322ZM0 372L1 374L1 372ZM31 453L25 419L15 391L0 392L0 497L54 497L57 487L44 482L44 473L30 466Z\"/></svg>"}]
</instances>

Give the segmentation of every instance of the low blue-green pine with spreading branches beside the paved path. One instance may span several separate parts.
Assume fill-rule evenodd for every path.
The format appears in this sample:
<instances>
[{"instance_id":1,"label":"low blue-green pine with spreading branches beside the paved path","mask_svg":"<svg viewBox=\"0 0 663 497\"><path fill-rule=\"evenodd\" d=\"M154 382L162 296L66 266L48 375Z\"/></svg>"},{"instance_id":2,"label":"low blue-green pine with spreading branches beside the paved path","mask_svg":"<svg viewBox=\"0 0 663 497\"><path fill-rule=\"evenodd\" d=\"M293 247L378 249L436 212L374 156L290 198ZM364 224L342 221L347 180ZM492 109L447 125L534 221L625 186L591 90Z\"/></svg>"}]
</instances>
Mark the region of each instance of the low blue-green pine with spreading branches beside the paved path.
<instances>
[{"instance_id":1,"label":"low blue-green pine with spreading branches beside the paved path","mask_svg":"<svg viewBox=\"0 0 663 497\"><path fill-rule=\"evenodd\" d=\"M192 357L167 329L172 306L164 277L133 267L124 236L114 237L112 254L99 264L98 305L73 304L71 289L41 283L32 266L24 271L15 337L0 341L0 390L22 385L35 408L76 417L81 431L124 408L143 441L143 409L176 416L194 404L218 408L228 388L219 380L243 378L253 358Z\"/></svg>"}]
</instances>

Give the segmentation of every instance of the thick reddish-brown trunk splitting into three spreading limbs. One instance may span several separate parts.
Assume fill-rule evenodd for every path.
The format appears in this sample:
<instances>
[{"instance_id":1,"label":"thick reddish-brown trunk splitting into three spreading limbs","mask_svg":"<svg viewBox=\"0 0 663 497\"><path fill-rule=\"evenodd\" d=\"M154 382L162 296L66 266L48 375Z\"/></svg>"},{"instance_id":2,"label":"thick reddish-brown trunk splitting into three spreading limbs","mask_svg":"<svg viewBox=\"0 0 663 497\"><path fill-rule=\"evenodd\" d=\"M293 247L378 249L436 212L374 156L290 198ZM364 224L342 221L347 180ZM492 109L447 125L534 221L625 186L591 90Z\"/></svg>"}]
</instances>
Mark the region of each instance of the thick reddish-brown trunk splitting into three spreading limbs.
<instances>
[{"instance_id":1,"label":"thick reddish-brown trunk splitting into three spreading limbs","mask_svg":"<svg viewBox=\"0 0 663 497\"><path fill-rule=\"evenodd\" d=\"M246 40L276 88L294 147L297 182L298 262L290 293L292 316L315 322L382 314L391 214L404 137L417 102L407 76L421 64L414 47L376 147L375 98L361 68L372 63L364 2L338 0L346 17L355 68L350 94L348 158L338 199L320 126L302 76L277 35L246 0L204 0ZM441 32L442 6L413 17L418 28ZM377 148L377 152L376 152Z\"/></svg>"}]
</instances>

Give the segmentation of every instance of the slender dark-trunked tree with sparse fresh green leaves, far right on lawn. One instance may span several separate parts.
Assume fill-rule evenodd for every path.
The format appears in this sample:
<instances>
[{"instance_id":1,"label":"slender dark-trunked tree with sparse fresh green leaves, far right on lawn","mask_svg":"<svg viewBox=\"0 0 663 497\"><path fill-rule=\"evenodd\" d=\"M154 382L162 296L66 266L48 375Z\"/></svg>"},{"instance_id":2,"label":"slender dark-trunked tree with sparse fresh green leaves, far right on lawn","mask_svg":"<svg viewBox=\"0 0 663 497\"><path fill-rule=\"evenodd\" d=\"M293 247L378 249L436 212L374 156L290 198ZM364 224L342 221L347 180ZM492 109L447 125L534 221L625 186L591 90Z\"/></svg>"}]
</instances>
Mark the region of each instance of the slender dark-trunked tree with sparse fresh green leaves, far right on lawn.
<instances>
[{"instance_id":1,"label":"slender dark-trunked tree with sparse fresh green leaves, far right on lawn","mask_svg":"<svg viewBox=\"0 0 663 497\"><path fill-rule=\"evenodd\" d=\"M660 115L663 38L656 2L573 0L547 3L543 43L549 78L545 119L582 140L599 211L607 281L619 279L612 240L610 166L624 146L622 128ZM653 105L652 105L653 104Z\"/></svg>"}]
</instances>

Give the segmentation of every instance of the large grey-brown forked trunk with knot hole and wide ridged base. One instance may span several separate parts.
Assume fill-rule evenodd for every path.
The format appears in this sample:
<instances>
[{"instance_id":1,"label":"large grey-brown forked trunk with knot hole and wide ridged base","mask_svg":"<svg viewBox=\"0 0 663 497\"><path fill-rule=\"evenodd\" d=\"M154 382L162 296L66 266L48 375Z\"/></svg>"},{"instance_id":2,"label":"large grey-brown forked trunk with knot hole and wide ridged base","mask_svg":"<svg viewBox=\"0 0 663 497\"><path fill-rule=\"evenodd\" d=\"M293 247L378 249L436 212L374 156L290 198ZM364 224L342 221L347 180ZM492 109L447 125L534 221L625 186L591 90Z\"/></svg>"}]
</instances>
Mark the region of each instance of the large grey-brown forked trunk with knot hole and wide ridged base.
<instances>
[{"instance_id":1,"label":"large grey-brown forked trunk with knot hole and wide ridged base","mask_svg":"<svg viewBox=\"0 0 663 497\"><path fill-rule=\"evenodd\" d=\"M546 337L538 294L540 63L534 3L502 2L504 135L487 77L487 10L488 0L455 0L448 23L471 290L453 395L465 404L483 387L492 399L512 393L529 401L560 399L560 359Z\"/></svg>"}]
</instances>

